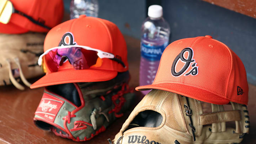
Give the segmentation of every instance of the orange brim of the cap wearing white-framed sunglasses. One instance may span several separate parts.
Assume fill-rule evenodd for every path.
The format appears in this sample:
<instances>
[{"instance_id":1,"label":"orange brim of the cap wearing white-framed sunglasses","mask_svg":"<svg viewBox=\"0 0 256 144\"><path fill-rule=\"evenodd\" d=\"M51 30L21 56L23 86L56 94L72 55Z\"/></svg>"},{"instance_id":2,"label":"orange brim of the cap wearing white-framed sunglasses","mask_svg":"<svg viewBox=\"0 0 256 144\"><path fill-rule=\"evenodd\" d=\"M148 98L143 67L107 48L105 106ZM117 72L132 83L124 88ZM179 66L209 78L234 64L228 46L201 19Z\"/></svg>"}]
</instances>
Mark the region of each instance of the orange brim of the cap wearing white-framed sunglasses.
<instances>
[{"instance_id":1,"label":"orange brim of the cap wearing white-framed sunglasses","mask_svg":"<svg viewBox=\"0 0 256 144\"><path fill-rule=\"evenodd\" d=\"M43 86L66 84L72 82L96 82L107 81L115 78L117 71L86 69L86 70L62 70L54 73L48 73L43 78L34 82L31 89Z\"/></svg>"}]
</instances>

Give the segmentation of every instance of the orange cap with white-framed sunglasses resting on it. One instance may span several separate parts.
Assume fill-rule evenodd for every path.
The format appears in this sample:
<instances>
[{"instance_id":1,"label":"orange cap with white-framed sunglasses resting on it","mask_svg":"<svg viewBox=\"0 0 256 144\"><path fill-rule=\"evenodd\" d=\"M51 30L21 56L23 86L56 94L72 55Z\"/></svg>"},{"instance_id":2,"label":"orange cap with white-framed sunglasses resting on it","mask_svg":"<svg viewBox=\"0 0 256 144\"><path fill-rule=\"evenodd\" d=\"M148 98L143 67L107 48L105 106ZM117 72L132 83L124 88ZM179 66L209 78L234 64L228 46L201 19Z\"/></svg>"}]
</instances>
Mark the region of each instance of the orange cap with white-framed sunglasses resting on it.
<instances>
[{"instance_id":1,"label":"orange cap with white-framed sunglasses resting on it","mask_svg":"<svg viewBox=\"0 0 256 144\"><path fill-rule=\"evenodd\" d=\"M79 18L63 22L48 32L44 41L44 52L59 46L61 41L73 41L80 46L112 53L121 58L126 67L107 58L103 59L100 67L83 70L75 70L69 62L65 62L57 72L46 73L43 78L32 84L31 89L71 82L107 81L115 78L118 72L128 70L126 42L118 27L110 21L81 15Z\"/></svg>"}]
</instances>

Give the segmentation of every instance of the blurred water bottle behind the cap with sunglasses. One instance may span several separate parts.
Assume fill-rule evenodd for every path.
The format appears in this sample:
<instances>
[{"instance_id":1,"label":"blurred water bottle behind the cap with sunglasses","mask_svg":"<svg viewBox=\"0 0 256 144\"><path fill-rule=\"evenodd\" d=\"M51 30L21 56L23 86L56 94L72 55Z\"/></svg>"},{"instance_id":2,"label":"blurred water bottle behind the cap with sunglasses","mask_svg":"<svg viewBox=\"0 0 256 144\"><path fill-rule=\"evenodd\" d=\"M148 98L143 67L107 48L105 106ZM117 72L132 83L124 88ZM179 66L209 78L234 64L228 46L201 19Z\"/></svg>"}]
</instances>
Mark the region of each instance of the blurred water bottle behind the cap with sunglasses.
<instances>
[{"instance_id":1,"label":"blurred water bottle behind the cap with sunglasses","mask_svg":"<svg viewBox=\"0 0 256 144\"><path fill-rule=\"evenodd\" d=\"M98 0L71 0L70 19L80 15L98 17Z\"/></svg>"}]
</instances>

